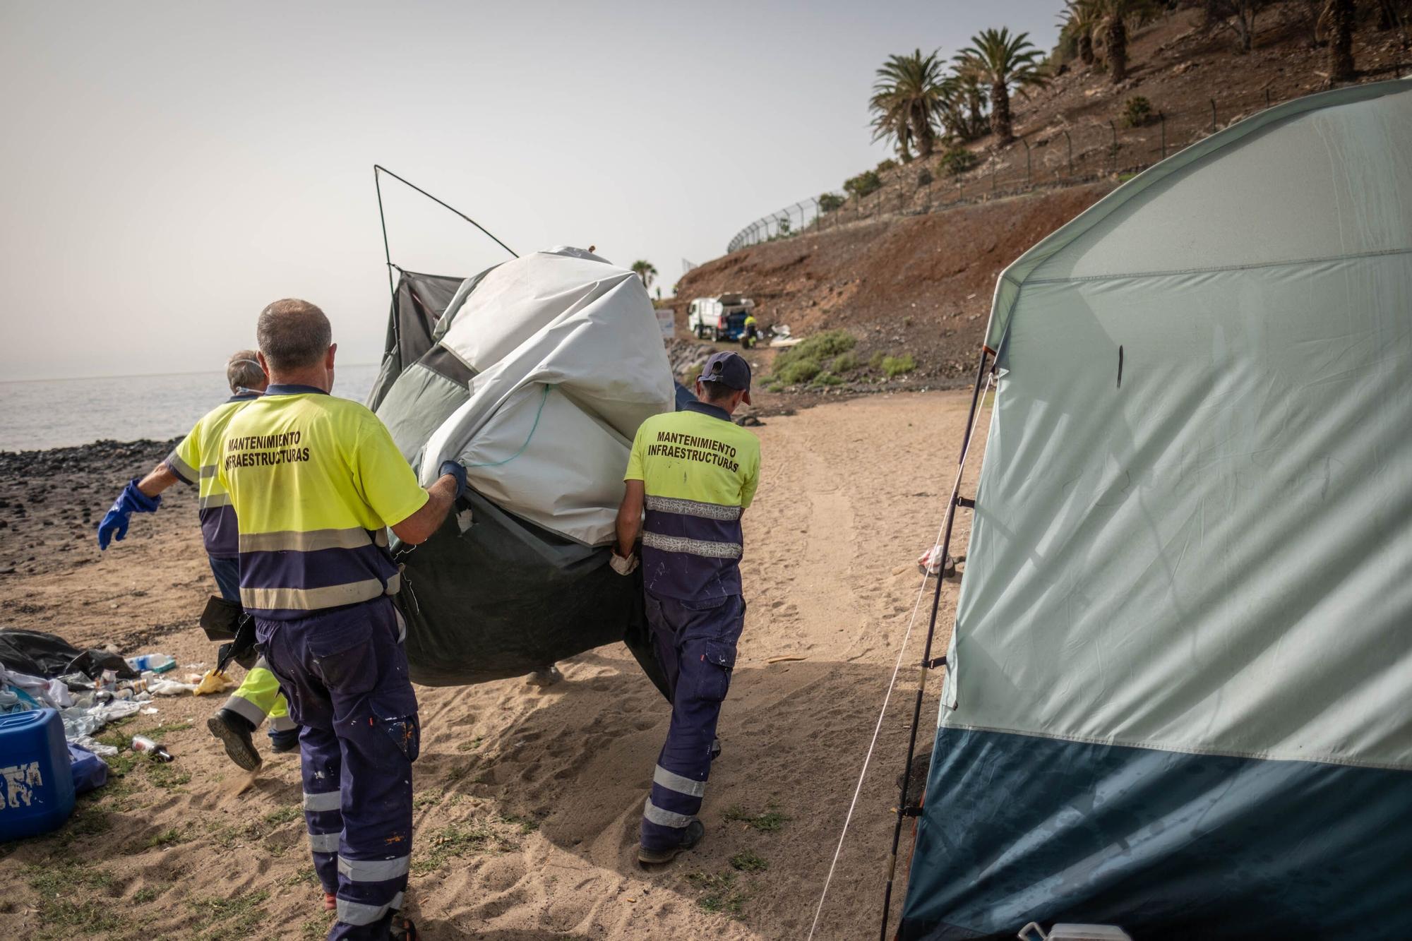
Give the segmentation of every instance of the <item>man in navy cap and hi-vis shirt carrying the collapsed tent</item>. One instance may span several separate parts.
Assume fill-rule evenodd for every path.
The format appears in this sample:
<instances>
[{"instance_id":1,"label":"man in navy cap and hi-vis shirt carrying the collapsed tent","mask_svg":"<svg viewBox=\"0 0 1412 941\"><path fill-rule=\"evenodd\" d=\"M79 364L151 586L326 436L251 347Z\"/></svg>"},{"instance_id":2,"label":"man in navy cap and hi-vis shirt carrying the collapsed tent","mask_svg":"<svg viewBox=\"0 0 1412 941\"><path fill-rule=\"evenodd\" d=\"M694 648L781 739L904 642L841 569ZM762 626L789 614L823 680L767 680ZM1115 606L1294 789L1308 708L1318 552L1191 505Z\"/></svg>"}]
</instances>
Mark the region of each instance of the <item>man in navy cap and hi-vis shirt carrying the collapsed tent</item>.
<instances>
[{"instance_id":1,"label":"man in navy cap and hi-vis shirt carrying the collapsed tent","mask_svg":"<svg viewBox=\"0 0 1412 941\"><path fill-rule=\"evenodd\" d=\"M642 865L671 862L705 834L696 814L746 622L740 517L760 483L760 441L730 415L750 403L750 365L716 353L696 380L696 398L637 430L611 558L614 571L630 575L641 531L647 620L672 701L642 810Z\"/></svg>"}]
</instances>

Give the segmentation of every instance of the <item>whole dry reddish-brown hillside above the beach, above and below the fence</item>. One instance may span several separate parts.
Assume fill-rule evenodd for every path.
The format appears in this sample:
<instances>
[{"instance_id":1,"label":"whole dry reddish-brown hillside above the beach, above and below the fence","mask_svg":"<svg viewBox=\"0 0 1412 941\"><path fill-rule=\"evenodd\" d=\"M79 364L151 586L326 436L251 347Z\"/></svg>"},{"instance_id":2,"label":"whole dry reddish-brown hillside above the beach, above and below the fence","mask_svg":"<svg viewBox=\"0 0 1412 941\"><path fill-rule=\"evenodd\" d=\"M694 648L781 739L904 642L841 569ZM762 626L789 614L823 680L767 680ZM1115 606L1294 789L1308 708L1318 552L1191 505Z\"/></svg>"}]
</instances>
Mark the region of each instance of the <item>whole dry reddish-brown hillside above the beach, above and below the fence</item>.
<instances>
[{"instance_id":1,"label":"whole dry reddish-brown hillside above the beach, above and below the fence","mask_svg":"<svg viewBox=\"0 0 1412 941\"><path fill-rule=\"evenodd\" d=\"M847 328L864 362L878 350L918 360L888 381L875 370L854 373L846 390L964 383L995 277L1025 249L1163 153L1267 102L1327 86L1309 8L1291 1L1264 11L1248 54L1230 31L1203 28L1199 10L1172 13L1132 32L1130 78L1118 85L1100 68L1067 64L1048 88L1014 99L1017 143L998 148L983 137L969 146L974 170L947 177L938 157L885 168L880 191L849 199L822 223L685 274L679 331L690 298L740 291L757 300L762 324L788 324L796 336ZM1405 73L1409 59L1396 30L1360 24L1360 81ZM1134 96L1154 114L1141 127L1123 120Z\"/></svg>"}]
</instances>

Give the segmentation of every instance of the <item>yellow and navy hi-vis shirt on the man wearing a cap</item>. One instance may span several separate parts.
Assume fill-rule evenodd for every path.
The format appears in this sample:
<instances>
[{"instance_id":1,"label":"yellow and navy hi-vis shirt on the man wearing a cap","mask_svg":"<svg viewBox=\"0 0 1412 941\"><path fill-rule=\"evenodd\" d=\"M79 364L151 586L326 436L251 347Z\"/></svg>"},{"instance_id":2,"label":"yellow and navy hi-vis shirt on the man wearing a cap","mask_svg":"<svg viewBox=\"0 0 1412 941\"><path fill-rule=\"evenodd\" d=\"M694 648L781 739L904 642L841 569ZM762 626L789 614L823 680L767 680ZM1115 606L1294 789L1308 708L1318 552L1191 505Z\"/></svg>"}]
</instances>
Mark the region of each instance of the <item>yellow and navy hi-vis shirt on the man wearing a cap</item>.
<instances>
[{"instance_id":1,"label":"yellow and navy hi-vis shirt on the man wearing a cap","mask_svg":"<svg viewBox=\"0 0 1412 941\"><path fill-rule=\"evenodd\" d=\"M760 485L760 439L693 401L637 430L624 480L641 480L642 584L664 598L740 595L740 516Z\"/></svg>"}]
</instances>

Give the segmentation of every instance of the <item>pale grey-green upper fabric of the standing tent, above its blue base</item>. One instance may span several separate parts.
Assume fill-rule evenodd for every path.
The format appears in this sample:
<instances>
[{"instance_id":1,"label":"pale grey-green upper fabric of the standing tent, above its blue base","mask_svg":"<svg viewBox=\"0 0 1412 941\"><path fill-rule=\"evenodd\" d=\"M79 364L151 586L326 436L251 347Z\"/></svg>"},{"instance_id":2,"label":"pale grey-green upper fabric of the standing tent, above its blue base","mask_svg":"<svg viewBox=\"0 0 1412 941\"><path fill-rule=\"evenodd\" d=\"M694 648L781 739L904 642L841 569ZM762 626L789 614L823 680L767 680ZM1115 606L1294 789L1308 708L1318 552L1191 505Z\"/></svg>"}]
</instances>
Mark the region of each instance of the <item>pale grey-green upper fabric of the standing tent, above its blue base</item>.
<instances>
[{"instance_id":1,"label":"pale grey-green upper fabric of the standing tent, above its blue base","mask_svg":"<svg viewBox=\"0 0 1412 941\"><path fill-rule=\"evenodd\" d=\"M1319 97L1005 273L947 725L1412 769L1412 93Z\"/></svg>"}]
</instances>

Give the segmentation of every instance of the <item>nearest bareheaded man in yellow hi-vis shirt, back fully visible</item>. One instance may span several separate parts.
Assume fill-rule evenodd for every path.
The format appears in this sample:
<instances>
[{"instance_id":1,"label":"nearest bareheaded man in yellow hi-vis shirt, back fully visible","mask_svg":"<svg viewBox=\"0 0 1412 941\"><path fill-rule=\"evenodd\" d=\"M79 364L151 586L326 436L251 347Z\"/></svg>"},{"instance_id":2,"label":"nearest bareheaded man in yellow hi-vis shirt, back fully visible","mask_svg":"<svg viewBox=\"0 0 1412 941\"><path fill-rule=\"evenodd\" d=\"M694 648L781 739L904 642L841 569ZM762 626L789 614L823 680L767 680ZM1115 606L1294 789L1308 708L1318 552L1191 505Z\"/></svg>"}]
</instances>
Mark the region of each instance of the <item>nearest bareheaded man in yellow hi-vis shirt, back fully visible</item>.
<instances>
[{"instance_id":1,"label":"nearest bareheaded man in yellow hi-vis shirt, back fully visible","mask_svg":"<svg viewBox=\"0 0 1412 941\"><path fill-rule=\"evenodd\" d=\"M393 606L387 528L425 541L466 487L428 489L377 415L329 394L329 321L306 301L260 314L265 394L226 427L222 485L240 524L240 600L304 726L304 815L329 938L415 937L398 914L412 852L417 697Z\"/></svg>"}]
</instances>

